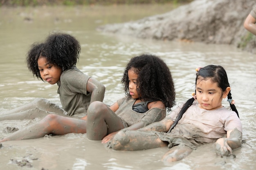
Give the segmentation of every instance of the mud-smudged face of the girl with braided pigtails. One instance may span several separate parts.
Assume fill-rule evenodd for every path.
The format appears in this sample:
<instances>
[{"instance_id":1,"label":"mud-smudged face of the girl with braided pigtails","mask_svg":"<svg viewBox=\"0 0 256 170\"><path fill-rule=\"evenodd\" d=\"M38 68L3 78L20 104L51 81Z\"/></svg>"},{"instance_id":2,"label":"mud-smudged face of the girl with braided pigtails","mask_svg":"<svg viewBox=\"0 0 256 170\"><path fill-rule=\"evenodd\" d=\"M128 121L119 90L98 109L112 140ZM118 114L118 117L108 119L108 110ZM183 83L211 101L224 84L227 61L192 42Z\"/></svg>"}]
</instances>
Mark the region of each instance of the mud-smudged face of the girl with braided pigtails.
<instances>
[{"instance_id":1,"label":"mud-smudged face of the girl with braided pigtails","mask_svg":"<svg viewBox=\"0 0 256 170\"><path fill-rule=\"evenodd\" d=\"M224 96L217 82L213 83L211 79L198 79L195 90L200 108L213 110L222 107L222 97Z\"/></svg>"}]
</instances>

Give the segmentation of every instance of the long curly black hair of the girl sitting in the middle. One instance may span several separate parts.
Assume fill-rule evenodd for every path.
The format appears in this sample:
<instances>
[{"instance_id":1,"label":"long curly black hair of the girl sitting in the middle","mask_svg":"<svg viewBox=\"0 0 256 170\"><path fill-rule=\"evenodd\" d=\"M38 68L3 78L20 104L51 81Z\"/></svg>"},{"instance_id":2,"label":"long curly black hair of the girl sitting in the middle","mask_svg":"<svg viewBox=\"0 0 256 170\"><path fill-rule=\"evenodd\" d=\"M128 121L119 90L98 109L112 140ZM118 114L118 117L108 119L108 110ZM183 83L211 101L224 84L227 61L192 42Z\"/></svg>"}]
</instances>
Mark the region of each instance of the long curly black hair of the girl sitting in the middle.
<instances>
[{"instance_id":1,"label":"long curly black hair of the girl sitting in the middle","mask_svg":"<svg viewBox=\"0 0 256 170\"><path fill-rule=\"evenodd\" d=\"M168 112L176 104L175 88L170 69L166 63L158 56L142 54L133 57L127 64L121 82L127 97L129 93L128 71L132 69L137 73L137 92L139 99L144 101L162 101Z\"/></svg>"}]
</instances>

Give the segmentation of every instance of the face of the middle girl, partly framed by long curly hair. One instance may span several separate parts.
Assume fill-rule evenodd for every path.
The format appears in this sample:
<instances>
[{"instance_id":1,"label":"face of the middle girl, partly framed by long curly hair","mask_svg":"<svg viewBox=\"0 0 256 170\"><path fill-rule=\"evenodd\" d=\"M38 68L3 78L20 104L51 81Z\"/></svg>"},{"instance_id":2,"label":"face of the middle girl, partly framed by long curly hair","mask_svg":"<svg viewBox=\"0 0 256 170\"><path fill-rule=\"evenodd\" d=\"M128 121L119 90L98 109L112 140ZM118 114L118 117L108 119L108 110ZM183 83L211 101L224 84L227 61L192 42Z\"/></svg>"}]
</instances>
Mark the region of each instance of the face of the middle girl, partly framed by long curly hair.
<instances>
[{"instance_id":1,"label":"face of the middle girl, partly framed by long curly hair","mask_svg":"<svg viewBox=\"0 0 256 170\"><path fill-rule=\"evenodd\" d=\"M128 71L129 91L133 99L139 98L139 95L137 93L137 78L138 75L132 69L130 69Z\"/></svg>"}]
</instances>

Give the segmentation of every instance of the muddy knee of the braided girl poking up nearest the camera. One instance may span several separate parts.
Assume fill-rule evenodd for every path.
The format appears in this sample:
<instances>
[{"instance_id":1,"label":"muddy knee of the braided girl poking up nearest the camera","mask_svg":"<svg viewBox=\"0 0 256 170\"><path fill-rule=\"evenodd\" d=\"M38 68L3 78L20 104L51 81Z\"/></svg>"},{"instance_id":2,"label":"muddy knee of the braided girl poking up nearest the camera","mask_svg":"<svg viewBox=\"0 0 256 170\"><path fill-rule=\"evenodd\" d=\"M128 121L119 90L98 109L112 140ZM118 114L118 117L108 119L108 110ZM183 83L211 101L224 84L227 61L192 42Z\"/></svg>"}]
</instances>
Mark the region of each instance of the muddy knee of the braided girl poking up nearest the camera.
<instances>
[{"instance_id":1,"label":"muddy knee of the braided girl poking up nearest the camera","mask_svg":"<svg viewBox=\"0 0 256 170\"><path fill-rule=\"evenodd\" d=\"M184 145L178 145L172 147L168 152L164 154L162 157L162 161L164 162L175 162L183 159L187 155L189 155L192 152L192 149L184 146Z\"/></svg>"}]
</instances>

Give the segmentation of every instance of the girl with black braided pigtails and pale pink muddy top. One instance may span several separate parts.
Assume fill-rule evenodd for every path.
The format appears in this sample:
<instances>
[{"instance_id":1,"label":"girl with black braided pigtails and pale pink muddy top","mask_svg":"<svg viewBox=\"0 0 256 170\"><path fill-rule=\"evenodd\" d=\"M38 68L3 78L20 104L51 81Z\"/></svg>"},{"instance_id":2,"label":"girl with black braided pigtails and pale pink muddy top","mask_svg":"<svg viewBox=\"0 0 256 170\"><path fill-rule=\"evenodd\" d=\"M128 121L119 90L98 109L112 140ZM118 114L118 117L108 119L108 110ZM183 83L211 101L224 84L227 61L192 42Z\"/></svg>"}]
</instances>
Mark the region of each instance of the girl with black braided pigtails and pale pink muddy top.
<instances>
[{"instance_id":1,"label":"girl with black braided pigtails and pale pink muddy top","mask_svg":"<svg viewBox=\"0 0 256 170\"><path fill-rule=\"evenodd\" d=\"M222 66L198 68L195 93L159 122L139 130L121 130L110 142L114 150L145 150L168 146L162 161L183 159L201 144L215 142L216 154L228 156L242 144L242 124ZM228 98L232 110L222 106Z\"/></svg>"}]
</instances>

